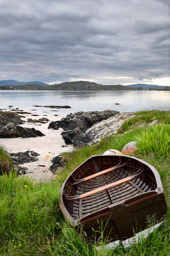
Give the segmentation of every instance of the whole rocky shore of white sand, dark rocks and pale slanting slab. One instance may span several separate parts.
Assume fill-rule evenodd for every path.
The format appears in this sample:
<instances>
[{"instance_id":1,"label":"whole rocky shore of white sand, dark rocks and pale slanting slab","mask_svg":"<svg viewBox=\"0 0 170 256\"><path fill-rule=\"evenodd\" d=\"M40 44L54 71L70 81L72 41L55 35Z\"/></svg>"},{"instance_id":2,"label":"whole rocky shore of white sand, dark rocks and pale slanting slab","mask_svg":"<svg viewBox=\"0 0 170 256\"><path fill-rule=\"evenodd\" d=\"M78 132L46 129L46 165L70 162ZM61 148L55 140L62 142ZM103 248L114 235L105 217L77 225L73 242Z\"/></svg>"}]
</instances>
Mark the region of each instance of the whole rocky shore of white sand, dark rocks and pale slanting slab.
<instances>
[{"instance_id":1,"label":"whole rocky shore of white sand, dark rocks and pale slanting slab","mask_svg":"<svg viewBox=\"0 0 170 256\"><path fill-rule=\"evenodd\" d=\"M18 175L54 179L53 174L64 167L62 152L97 143L133 116L114 110L71 113L65 118L50 113L44 117L18 108L0 111L0 145L13 159Z\"/></svg>"}]
</instances>

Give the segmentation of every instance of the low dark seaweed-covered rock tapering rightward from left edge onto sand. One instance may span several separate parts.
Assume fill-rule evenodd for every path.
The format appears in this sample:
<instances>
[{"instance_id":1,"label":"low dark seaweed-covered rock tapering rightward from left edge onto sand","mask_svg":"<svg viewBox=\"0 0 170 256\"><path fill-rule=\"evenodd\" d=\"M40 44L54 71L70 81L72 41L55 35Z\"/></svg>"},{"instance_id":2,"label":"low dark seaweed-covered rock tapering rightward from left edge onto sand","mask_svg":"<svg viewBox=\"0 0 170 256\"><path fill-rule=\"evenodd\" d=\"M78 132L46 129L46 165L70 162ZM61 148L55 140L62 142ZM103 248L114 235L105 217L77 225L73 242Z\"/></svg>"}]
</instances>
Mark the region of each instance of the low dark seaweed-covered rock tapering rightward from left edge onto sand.
<instances>
[{"instance_id":1,"label":"low dark seaweed-covered rock tapering rightward from left edge onto sand","mask_svg":"<svg viewBox=\"0 0 170 256\"><path fill-rule=\"evenodd\" d=\"M37 136L45 136L45 134L34 128L24 128L13 123L0 126L0 138L35 138Z\"/></svg>"}]
</instances>

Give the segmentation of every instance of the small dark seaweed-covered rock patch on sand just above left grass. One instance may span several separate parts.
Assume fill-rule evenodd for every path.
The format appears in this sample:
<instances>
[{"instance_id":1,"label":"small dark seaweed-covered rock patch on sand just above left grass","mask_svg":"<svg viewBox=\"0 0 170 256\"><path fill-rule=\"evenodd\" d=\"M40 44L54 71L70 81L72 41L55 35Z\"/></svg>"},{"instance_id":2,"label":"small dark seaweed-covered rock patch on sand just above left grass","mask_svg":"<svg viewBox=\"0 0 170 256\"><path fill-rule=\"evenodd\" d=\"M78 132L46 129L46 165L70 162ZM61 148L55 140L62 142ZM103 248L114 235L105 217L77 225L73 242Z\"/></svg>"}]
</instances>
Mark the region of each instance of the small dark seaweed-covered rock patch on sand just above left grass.
<instances>
[{"instance_id":1,"label":"small dark seaweed-covered rock patch on sand just above left grass","mask_svg":"<svg viewBox=\"0 0 170 256\"><path fill-rule=\"evenodd\" d=\"M13 160L13 164L17 165L38 161L37 156L39 156L39 154L34 151L27 150L25 152L11 153L10 156Z\"/></svg>"}]
</instances>

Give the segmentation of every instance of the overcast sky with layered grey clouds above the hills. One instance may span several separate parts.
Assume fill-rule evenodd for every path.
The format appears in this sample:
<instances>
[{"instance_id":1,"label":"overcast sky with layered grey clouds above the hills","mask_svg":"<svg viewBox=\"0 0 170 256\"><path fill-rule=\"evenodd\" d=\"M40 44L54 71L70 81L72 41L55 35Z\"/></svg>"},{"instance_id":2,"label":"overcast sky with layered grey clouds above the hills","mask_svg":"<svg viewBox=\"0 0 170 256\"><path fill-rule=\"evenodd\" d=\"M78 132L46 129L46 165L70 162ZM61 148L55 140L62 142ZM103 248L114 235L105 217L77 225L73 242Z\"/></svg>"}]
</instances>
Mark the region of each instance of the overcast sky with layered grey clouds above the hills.
<instances>
[{"instance_id":1,"label":"overcast sky with layered grey clouds above the hills","mask_svg":"<svg viewBox=\"0 0 170 256\"><path fill-rule=\"evenodd\" d=\"M170 85L169 0L0 0L0 80Z\"/></svg>"}]
</instances>

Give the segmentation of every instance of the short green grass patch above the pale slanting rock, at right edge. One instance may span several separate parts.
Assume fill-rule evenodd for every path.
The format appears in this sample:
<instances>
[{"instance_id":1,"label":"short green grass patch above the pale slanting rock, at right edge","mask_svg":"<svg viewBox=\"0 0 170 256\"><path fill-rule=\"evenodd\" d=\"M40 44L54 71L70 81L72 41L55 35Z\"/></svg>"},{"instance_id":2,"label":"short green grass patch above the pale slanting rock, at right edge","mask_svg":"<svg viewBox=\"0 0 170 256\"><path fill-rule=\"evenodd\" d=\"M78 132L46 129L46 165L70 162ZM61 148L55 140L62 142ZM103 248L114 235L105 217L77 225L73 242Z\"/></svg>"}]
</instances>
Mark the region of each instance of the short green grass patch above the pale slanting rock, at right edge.
<instances>
[{"instance_id":1,"label":"short green grass patch above the pale slanting rock, at right edge","mask_svg":"<svg viewBox=\"0 0 170 256\"><path fill-rule=\"evenodd\" d=\"M135 116L129 120L126 120L122 127L118 129L117 134L122 134L126 131L133 129L138 125L145 125L153 122L154 120L159 120L162 123L170 124L170 111L138 111Z\"/></svg>"}]
</instances>

